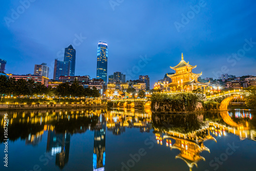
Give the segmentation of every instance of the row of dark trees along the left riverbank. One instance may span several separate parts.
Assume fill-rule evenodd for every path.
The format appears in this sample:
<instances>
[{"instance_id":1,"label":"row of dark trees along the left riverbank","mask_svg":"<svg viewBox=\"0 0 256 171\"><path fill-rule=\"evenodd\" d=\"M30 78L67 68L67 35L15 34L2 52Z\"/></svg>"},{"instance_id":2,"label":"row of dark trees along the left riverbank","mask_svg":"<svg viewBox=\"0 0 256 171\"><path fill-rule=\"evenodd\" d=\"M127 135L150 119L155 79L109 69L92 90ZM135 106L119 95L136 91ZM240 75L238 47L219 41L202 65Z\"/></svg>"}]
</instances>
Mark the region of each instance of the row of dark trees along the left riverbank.
<instances>
[{"instance_id":1,"label":"row of dark trees along the left riverbank","mask_svg":"<svg viewBox=\"0 0 256 171\"><path fill-rule=\"evenodd\" d=\"M83 88L79 82L75 80L71 86L69 82L60 83L56 88L51 86L46 87L40 82L35 82L33 79L26 81L25 79L7 78L5 75L0 75L0 95L2 96L61 96L61 97L100 97L99 91L94 87Z\"/></svg>"}]
</instances>

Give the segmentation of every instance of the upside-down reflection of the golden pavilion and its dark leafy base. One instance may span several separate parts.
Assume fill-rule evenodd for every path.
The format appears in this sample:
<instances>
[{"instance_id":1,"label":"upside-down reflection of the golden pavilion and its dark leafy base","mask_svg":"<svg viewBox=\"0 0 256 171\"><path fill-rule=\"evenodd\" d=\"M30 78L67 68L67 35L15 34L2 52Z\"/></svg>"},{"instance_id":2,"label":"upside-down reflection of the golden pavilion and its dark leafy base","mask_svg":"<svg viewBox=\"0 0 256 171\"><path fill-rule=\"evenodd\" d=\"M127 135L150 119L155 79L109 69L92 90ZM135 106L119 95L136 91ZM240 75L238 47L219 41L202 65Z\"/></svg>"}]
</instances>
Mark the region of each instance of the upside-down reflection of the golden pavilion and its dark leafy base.
<instances>
[{"instance_id":1,"label":"upside-down reflection of the golden pavilion and its dark leafy base","mask_svg":"<svg viewBox=\"0 0 256 171\"><path fill-rule=\"evenodd\" d=\"M204 145L207 140L216 139L210 135L207 123L203 122L203 113L189 115L153 115L153 128L157 143L163 144L170 149L179 149L180 154L175 158L182 159L189 170L197 165L203 151L210 152ZM217 141L216 141L217 142Z\"/></svg>"}]
</instances>

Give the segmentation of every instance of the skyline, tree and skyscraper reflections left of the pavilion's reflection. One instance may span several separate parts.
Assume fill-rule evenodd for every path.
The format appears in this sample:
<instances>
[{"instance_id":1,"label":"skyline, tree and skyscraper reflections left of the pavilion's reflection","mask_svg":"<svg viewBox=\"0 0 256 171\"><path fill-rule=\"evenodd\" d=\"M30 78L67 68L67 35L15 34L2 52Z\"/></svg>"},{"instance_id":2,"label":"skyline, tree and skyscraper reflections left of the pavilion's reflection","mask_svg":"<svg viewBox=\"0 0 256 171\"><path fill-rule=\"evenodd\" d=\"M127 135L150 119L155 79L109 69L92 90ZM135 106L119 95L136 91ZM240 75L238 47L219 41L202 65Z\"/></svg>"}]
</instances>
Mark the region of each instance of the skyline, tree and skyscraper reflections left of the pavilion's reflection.
<instances>
[{"instance_id":1,"label":"skyline, tree and skyscraper reflections left of the pavilion's reflection","mask_svg":"<svg viewBox=\"0 0 256 171\"><path fill-rule=\"evenodd\" d=\"M46 152L55 156L55 164L65 167L69 161L71 135L94 131L93 170L103 171L105 166L106 129L113 135L125 132L125 127L137 127L140 132L150 132L151 111L123 110L42 110L8 111L9 139L25 139L26 145L37 146L47 133ZM0 112L3 129L4 113ZM4 137L0 141L3 143Z\"/></svg>"}]
</instances>

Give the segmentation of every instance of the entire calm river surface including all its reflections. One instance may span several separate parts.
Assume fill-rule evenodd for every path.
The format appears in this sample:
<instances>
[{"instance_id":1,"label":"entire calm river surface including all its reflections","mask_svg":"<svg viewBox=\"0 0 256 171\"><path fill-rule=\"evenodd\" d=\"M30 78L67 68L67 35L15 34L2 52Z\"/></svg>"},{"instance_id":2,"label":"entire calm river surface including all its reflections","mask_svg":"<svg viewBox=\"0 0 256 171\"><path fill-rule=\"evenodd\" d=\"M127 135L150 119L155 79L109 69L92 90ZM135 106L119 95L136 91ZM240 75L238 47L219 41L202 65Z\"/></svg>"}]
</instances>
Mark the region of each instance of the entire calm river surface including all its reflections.
<instances>
[{"instance_id":1,"label":"entire calm river surface including all its reflections","mask_svg":"<svg viewBox=\"0 0 256 171\"><path fill-rule=\"evenodd\" d=\"M8 114L8 168L4 114ZM0 170L256 170L256 113L0 112Z\"/></svg>"}]
</instances>

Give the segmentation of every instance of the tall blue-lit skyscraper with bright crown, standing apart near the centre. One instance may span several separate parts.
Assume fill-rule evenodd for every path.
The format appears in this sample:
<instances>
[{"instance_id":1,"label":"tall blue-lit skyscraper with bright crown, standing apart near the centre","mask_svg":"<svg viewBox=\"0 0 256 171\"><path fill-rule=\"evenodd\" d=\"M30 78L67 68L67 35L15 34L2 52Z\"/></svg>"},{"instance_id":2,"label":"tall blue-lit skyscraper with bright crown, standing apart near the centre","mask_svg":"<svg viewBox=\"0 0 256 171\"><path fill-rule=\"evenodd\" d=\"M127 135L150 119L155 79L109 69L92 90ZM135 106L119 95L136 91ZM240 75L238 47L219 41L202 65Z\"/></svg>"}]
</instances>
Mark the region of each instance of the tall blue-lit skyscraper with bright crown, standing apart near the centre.
<instances>
[{"instance_id":1,"label":"tall blue-lit skyscraper with bright crown, standing apart near the centre","mask_svg":"<svg viewBox=\"0 0 256 171\"><path fill-rule=\"evenodd\" d=\"M97 52L97 79L103 79L106 84L108 72L108 44L100 41Z\"/></svg>"}]
</instances>

